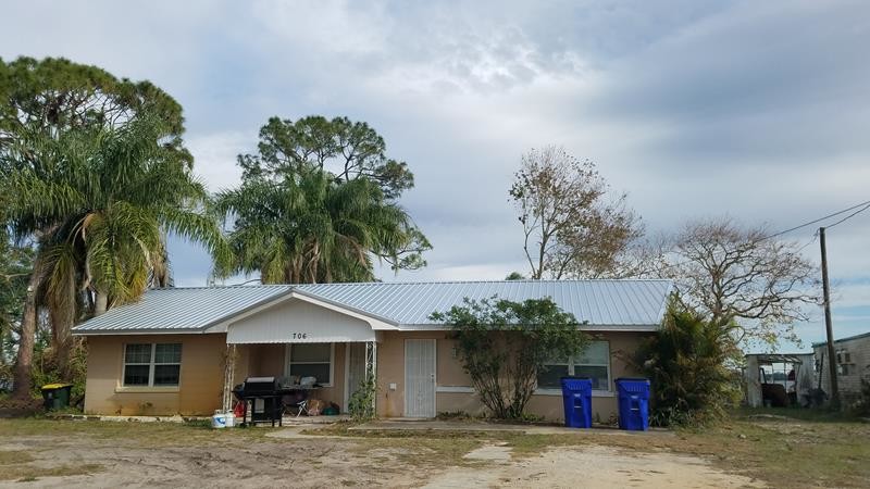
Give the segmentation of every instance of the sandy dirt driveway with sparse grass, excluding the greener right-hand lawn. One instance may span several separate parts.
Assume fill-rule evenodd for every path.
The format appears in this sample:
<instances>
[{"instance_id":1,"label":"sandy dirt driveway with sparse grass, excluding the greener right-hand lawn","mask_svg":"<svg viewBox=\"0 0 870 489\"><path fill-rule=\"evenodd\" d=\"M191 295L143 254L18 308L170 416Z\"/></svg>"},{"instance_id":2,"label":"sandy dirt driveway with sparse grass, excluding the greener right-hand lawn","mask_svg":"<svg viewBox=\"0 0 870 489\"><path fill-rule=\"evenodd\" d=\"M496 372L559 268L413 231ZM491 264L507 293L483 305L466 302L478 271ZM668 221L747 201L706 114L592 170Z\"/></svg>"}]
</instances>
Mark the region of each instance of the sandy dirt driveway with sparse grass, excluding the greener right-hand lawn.
<instances>
[{"instance_id":1,"label":"sandy dirt driveway with sparse grass, excluding the greener right-hand lawn","mask_svg":"<svg viewBox=\"0 0 870 489\"><path fill-rule=\"evenodd\" d=\"M347 438L2 419L0 432L0 486L15 488L760 486L698 456L546 439L532 448L492 434Z\"/></svg>"}]
</instances>

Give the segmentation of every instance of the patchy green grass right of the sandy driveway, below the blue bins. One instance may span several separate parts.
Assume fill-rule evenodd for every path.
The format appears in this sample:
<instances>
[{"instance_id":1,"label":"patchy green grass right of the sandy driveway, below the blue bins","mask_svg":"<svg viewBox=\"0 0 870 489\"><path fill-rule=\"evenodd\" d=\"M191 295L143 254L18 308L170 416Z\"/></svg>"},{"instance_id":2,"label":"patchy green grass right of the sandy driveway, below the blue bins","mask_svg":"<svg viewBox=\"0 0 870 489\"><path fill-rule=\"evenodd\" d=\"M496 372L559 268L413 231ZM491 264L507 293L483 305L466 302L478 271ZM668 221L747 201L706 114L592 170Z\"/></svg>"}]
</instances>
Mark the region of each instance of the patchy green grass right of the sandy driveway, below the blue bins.
<instances>
[{"instance_id":1,"label":"patchy green grass right of the sandy driveway, below the blue bins","mask_svg":"<svg viewBox=\"0 0 870 489\"><path fill-rule=\"evenodd\" d=\"M772 487L870 487L870 423L809 410L741 410L720 426L680 429L674 436L616 436L599 430L582 436L489 431L359 432L340 425L328 429L344 436L443 440L446 446L460 436L498 440L511 447L513 459L535 456L558 447L671 452L703 457L718 468L762 480Z\"/></svg>"}]
</instances>

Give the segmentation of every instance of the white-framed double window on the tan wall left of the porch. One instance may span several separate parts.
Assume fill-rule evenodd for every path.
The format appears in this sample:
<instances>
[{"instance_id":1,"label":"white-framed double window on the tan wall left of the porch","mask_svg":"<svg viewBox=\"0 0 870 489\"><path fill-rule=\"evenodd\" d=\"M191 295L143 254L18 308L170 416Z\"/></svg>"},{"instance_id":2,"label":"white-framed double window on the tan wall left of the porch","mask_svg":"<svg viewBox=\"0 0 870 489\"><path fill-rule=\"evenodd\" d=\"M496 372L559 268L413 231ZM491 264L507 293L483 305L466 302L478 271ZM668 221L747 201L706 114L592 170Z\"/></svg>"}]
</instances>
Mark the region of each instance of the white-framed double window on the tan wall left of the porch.
<instances>
[{"instance_id":1,"label":"white-framed double window on the tan wall left of the porch","mask_svg":"<svg viewBox=\"0 0 870 489\"><path fill-rule=\"evenodd\" d=\"M124 387L177 387L182 377L182 343L124 346Z\"/></svg>"}]
</instances>

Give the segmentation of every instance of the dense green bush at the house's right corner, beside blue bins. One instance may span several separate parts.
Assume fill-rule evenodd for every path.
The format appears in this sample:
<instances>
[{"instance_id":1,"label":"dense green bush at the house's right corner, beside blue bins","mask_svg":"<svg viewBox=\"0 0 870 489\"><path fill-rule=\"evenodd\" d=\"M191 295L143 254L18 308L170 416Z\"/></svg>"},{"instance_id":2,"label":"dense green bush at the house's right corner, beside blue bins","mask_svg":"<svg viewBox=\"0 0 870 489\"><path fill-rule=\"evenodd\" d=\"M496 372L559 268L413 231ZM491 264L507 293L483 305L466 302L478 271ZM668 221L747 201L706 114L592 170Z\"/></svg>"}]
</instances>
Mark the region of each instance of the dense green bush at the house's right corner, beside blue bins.
<instances>
[{"instance_id":1,"label":"dense green bush at the house's right corner, beside blue bins","mask_svg":"<svg viewBox=\"0 0 870 489\"><path fill-rule=\"evenodd\" d=\"M736 405L739 384L728 363L738 350L729 330L670 302L661 329L633 359L650 379L650 423L700 426Z\"/></svg>"}]
</instances>

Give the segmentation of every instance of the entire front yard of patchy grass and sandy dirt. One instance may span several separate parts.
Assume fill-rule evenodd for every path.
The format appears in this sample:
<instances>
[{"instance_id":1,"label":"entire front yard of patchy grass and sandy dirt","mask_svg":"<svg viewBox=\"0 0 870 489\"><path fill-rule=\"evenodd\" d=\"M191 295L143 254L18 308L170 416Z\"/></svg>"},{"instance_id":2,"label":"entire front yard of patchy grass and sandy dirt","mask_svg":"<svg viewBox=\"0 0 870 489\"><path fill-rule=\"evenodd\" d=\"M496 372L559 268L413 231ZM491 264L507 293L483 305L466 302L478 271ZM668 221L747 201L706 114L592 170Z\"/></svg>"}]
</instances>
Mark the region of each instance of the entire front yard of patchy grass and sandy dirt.
<instances>
[{"instance_id":1,"label":"entire front yard of patchy grass and sandy dirt","mask_svg":"<svg viewBox=\"0 0 870 489\"><path fill-rule=\"evenodd\" d=\"M523 435L477 431L473 423L459 431L349 427L302 432L211 430L204 424L0 419L0 486L867 487L870 482L870 425L796 411L741 412L720 427L672 435L599 430Z\"/></svg>"}]
</instances>

